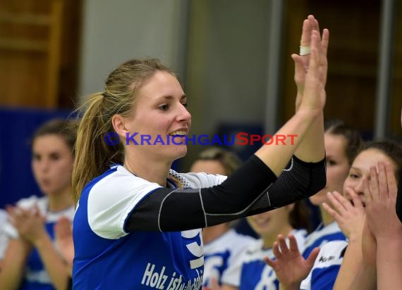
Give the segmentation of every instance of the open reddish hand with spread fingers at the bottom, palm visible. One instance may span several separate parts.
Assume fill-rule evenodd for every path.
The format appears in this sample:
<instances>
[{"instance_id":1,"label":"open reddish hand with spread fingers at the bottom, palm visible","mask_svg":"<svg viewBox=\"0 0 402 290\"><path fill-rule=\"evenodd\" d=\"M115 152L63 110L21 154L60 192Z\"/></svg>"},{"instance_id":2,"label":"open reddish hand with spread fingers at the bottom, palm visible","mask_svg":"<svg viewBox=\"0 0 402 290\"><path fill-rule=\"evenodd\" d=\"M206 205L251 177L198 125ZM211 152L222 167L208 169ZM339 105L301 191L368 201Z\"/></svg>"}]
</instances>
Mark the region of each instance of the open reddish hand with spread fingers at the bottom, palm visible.
<instances>
[{"instance_id":1,"label":"open reddish hand with spread fingers at the bottom, palm visible","mask_svg":"<svg viewBox=\"0 0 402 290\"><path fill-rule=\"evenodd\" d=\"M265 263L274 269L279 282L286 289L298 289L300 282L307 277L318 256L319 248L315 248L310 256L305 260L298 250L296 238L288 235L289 248L286 245L284 236L278 235L278 241L275 241L272 250L276 260L268 257L264 258Z\"/></svg>"}]
</instances>

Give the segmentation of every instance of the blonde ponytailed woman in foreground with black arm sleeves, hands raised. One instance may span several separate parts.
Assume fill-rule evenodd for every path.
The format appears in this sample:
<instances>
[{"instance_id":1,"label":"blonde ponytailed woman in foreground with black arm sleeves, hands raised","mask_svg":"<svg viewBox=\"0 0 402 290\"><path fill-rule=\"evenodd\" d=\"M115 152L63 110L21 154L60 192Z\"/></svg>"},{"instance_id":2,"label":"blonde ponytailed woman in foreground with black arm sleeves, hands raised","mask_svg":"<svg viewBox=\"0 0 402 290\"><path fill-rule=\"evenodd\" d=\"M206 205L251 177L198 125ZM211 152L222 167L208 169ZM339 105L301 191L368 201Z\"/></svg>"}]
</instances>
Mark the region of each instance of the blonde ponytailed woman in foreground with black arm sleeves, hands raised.
<instances>
[{"instance_id":1,"label":"blonde ponytailed woman in foreground with black arm sleeves, hands raised","mask_svg":"<svg viewBox=\"0 0 402 290\"><path fill-rule=\"evenodd\" d=\"M109 75L104 92L83 104L78 129L74 289L200 289L200 228L286 206L324 187L329 32L321 39L312 30L310 37L298 111L277 132L298 138L262 146L227 178L171 170L187 152L191 115L168 68L154 59L132 60ZM140 145L145 135L159 143Z\"/></svg>"}]
</instances>

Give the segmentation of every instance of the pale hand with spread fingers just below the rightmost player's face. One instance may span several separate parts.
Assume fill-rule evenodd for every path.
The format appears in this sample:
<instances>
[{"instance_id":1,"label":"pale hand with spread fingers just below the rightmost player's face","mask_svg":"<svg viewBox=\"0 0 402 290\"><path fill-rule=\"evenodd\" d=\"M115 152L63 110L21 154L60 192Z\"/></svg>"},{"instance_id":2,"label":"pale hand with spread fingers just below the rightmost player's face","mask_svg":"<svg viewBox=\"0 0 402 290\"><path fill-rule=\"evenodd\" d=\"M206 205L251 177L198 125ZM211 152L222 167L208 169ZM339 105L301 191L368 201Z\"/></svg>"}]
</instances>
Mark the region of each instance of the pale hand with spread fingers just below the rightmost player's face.
<instances>
[{"instance_id":1,"label":"pale hand with spread fingers just below the rightmost player's face","mask_svg":"<svg viewBox=\"0 0 402 290\"><path fill-rule=\"evenodd\" d=\"M333 193L329 192L327 196L335 210L328 206L327 203L323 203L322 206L338 222L346 237L349 239L361 239L365 224L365 208L353 189L348 188L346 191L351 196L353 204L341 196L339 192L334 191Z\"/></svg>"}]
</instances>

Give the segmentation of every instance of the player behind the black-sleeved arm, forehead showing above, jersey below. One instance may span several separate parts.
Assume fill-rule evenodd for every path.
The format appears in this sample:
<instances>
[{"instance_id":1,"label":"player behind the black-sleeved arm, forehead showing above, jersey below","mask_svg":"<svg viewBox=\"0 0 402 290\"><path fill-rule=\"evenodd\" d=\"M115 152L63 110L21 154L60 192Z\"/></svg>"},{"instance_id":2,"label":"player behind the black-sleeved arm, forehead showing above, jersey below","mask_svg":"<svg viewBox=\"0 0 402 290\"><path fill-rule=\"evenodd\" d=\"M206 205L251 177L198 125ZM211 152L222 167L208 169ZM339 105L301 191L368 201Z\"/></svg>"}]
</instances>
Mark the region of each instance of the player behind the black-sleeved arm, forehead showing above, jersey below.
<instances>
[{"instance_id":1,"label":"player behind the black-sleeved arm, forehead showing above, jersey below","mask_svg":"<svg viewBox=\"0 0 402 290\"><path fill-rule=\"evenodd\" d=\"M236 154L212 147L200 152L191 165L190 172L205 172L214 175L231 175L241 164ZM212 285L212 279L221 284L221 277L238 254L255 239L238 234L230 222L202 229L204 243L203 286Z\"/></svg>"}]
</instances>

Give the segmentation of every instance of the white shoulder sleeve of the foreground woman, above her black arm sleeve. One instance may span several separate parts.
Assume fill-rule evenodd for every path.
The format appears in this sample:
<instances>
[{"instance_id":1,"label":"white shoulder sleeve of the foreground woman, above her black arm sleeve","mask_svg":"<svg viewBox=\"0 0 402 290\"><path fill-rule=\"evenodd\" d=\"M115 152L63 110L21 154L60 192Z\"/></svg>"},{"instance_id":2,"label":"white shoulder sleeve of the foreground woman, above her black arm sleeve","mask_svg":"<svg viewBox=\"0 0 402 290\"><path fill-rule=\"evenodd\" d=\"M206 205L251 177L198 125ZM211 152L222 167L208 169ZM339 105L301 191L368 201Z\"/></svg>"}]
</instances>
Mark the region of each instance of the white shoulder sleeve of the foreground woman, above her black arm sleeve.
<instances>
[{"instance_id":1,"label":"white shoulder sleeve of the foreground woman, above her black arm sleeve","mask_svg":"<svg viewBox=\"0 0 402 290\"><path fill-rule=\"evenodd\" d=\"M117 170L90 189L87 204L89 225L105 239L126 236L126 219L145 196L161 186Z\"/></svg>"}]
</instances>

